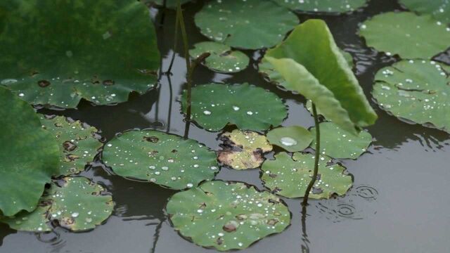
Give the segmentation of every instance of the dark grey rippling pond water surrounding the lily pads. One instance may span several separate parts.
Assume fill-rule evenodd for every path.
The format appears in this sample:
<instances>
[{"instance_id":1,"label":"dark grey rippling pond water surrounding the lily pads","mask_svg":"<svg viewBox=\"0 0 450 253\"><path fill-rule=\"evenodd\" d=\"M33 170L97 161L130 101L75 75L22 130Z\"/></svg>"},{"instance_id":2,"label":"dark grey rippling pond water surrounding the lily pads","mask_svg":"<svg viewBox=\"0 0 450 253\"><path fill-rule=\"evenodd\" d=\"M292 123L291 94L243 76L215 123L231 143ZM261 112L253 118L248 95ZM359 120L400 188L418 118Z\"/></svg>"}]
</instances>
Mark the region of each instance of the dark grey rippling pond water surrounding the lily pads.
<instances>
[{"instance_id":1,"label":"dark grey rippling pond water surrounding the lily pads","mask_svg":"<svg viewBox=\"0 0 450 253\"><path fill-rule=\"evenodd\" d=\"M201 2L184 6L191 44L207 40L193 24L193 15L201 6ZM356 35L356 30L366 18L394 10L401 10L397 1L372 0L368 7L352 15L300 15L300 18L326 20L338 46L354 56L356 77L366 96L371 98L375 72L396 59L367 48L364 40ZM152 18L160 20L161 14L153 9ZM174 20L174 11L167 11L164 26L157 29L163 56L162 70L167 70L174 53ZM186 63L180 56L181 46L175 53L173 74L162 76L158 89L143 96L132 95L127 103L113 106L92 106L84 101L78 110L41 112L65 115L96 126L106 140L135 128L160 129L182 136L184 121L179 98L186 81ZM258 74L257 62L262 52L245 53L252 58L247 70L232 75L217 74L200 66L195 72L194 84L249 82L264 87L278 94L288 105L289 117L284 126L313 126L314 120L304 108L305 101L301 96L281 91ZM448 53L438 59L449 63ZM379 115L378 122L368 129L375 142L358 160L342 160L354 176L354 186L349 193L331 200L310 200L303 224L300 200L283 198L293 213L291 225L283 233L269 236L241 252L448 252L449 134L401 122L380 110L375 103L371 104ZM192 125L189 138L217 150L219 134ZM270 159L272 155L267 157ZM56 228L53 233L38 235L15 232L0 224L0 252L214 251L188 242L172 228L165 205L176 191L115 176L99 159L82 175L103 183L113 193L115 212L104 225L89 233L70 233ZM259 169L236 171L223 167L217 178L245 181L259 189L264 188L259 179Z\"/></svg>"}]
</instances>

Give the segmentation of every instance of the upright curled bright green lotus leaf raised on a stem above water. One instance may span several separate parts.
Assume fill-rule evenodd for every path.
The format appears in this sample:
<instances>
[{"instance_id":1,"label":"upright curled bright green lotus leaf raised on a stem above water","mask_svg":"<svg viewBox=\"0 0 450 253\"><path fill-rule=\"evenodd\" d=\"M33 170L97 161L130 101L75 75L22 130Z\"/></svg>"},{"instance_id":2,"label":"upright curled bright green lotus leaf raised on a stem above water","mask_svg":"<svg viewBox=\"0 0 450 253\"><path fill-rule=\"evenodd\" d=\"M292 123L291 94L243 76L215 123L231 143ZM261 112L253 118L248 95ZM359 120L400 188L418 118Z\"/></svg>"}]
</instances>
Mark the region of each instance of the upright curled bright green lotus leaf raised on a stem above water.
<instances>
[{"instance_id":1,"label":"upright curled bright green lotus leaf raised on a stem above water","mask_svg":"<svg viewBox=\"0 0 450 253\"><path fill-rule=\"evenodd\" d=\"M323 20L307 20L264 58L285 89L310 99L327 119L356 134L377 115Z\"/></svg>"}]
</instances>

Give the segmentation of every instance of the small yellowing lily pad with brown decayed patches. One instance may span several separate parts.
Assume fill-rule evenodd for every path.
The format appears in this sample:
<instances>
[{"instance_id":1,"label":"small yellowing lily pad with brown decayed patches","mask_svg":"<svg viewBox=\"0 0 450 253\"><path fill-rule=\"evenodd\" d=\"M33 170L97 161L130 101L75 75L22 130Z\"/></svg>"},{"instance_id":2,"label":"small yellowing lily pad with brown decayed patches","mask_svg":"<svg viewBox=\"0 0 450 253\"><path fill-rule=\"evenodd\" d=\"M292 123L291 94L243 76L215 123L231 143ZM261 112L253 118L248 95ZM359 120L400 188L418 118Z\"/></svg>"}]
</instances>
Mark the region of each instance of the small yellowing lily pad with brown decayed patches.
<instances>
[{"instance_id":1,"label":"small yellowing lily pad with brown decayed patches","mask_svg":"<svg viewBox=\"0 0 450 253\"><path fill-rule=\"evenodd\" d=\"M264 153L272 150L266 136L254 131L233 130L221 135L223 150L218 152L219 162L233 169L254 169L264 162Z\"/></svg>"}]
</instances>

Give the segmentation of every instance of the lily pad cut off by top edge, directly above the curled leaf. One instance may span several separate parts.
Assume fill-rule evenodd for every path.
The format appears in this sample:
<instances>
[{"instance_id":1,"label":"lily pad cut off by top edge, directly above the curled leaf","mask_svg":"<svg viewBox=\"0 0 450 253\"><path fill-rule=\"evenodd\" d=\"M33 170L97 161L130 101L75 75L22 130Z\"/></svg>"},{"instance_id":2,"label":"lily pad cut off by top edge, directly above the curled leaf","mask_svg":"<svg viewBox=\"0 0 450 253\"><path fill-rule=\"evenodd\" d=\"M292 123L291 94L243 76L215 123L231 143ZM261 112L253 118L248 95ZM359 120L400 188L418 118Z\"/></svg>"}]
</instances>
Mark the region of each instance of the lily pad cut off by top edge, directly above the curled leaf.
<instances>
[{"instance_id":1,"label":"lily pad cut off by top edge, directly above the curled leaf","mask_svg":"<svg viewBox=\"0 0 450 253\"><path fill-rule=\"evenodd\" d=\"M346 13L367 4L367 0L272 0L294 11Z\"/></svg>"}]
</instances>

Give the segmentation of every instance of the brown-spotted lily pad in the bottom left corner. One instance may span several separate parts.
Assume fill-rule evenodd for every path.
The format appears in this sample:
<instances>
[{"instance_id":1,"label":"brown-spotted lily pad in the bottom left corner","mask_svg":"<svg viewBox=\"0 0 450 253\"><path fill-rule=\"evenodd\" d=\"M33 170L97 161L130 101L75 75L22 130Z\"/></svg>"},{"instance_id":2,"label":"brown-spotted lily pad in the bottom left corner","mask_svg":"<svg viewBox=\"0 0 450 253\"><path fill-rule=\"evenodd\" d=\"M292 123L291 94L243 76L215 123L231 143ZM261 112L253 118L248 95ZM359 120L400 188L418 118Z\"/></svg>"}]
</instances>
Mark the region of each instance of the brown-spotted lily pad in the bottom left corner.
<instances>
[{"instance_id":1,"label":"brown-spotted lily pad in the bottom left corner","mask_svg":"<svg viewBox=\"0 0 450 253\"><path fill-rule=\"evenodd\" d=\"M70 231L88 231L108 219L113 208L113 198L102 186L84 177L66 177L51 184L36 210L0 221L18 231L51 231L51 221Z\"/></svg>"}]
</instances>

